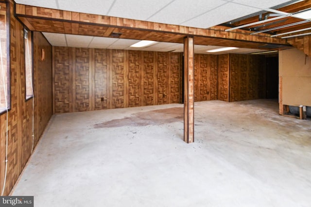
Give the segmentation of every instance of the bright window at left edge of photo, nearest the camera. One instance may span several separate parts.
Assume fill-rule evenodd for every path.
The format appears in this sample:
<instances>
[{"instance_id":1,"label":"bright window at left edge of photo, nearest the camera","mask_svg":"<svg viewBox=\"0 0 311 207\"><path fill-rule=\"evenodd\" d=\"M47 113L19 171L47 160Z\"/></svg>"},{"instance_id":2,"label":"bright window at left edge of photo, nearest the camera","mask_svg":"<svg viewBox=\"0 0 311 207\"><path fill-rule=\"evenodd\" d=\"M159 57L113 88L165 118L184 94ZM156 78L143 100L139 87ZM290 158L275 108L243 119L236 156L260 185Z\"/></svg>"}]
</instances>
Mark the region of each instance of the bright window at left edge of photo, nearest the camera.
<instances>
[{"instance_id":1,"label":"bright window at left edge of photo, nearest the camera","mask_svg":"<svg viewBox=\"0 0 311 207\"><path fill-rule=\"evenodd\" d=\"M10 109L10 67L8 12L6 4L0 3L0 114Z\"/></svg>"}]
</instances>

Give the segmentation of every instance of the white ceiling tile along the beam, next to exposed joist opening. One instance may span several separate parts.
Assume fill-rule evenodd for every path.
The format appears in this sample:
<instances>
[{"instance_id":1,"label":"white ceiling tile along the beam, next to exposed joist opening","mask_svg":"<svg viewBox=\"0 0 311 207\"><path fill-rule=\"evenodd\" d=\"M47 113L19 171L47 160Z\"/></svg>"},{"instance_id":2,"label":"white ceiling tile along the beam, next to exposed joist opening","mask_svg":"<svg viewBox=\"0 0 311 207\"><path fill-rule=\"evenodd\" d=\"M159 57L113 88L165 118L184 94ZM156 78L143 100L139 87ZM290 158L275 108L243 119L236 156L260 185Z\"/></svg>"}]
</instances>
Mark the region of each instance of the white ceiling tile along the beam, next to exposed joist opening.
<instances>
[{"instance_id":1,"label":"white ceiling tile along the beam, next to exposed joist opening","mask_svg":"<svg viewBox=\"0 0 311 207\"><path fill-rule=\"evenodd\" d=\"M211 10L204 15L193 18L181 25L197 28L209 28L259 11L261 11L261 9L235 3L226 3L225 5Z\"/></svg>"}]
</instances>

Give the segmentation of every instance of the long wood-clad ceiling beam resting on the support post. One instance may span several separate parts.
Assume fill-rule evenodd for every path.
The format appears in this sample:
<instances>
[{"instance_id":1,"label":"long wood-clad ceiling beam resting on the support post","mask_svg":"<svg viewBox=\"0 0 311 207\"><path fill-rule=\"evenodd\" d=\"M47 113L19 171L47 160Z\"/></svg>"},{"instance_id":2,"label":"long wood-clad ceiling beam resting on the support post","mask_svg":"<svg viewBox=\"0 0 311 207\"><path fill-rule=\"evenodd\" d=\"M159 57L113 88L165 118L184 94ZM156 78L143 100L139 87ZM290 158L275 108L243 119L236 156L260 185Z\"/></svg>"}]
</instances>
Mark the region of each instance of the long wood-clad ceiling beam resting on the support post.
<instances>
[{"instance_id":1,"label":"long wood-clad ceiling beam resting on the support post","mask_svg":"<svg viewBox=\"0 0 311 207\"><path fill-rule=\"evenodd\" d=\"M191 34L196 37L208 37L214 40L217 39L215 37L221 37L228 40L245 40L254 43L287 44L286 40L271 38L269 34L249 35L249 31L243 30L225 32L226 27L224 26L200 29L120 17L65 12L20 4L17 4L16 8L18 18L29 28L40 32L60 32L81 35L90 35L91 32L91 35L95 36L108 36L113 31L122 32L121 38L180 43L182 43L185 35ZM110 29L111 27L115 29L112 30Z\"/></svg>"}]
</instances>

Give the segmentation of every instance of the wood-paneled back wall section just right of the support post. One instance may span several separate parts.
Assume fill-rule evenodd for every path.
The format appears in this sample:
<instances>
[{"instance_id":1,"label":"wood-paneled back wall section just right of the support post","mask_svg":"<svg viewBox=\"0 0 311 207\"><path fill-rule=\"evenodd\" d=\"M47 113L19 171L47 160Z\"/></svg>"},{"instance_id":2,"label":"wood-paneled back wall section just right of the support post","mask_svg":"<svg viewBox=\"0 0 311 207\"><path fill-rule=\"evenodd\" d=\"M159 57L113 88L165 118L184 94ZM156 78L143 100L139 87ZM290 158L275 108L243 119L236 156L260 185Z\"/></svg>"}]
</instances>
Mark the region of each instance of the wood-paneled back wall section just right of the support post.
<instances>
[{"instance_id":1,"label":"wood-paneled back wall section just right of the support post","mask_svg":"<svg viewBox=\"0 0 311 207\"><path fill-rule=\"evenodd\" d=\"M194 100L217 100L217 55L194 55Z\"/></svg>"}]
</instances>

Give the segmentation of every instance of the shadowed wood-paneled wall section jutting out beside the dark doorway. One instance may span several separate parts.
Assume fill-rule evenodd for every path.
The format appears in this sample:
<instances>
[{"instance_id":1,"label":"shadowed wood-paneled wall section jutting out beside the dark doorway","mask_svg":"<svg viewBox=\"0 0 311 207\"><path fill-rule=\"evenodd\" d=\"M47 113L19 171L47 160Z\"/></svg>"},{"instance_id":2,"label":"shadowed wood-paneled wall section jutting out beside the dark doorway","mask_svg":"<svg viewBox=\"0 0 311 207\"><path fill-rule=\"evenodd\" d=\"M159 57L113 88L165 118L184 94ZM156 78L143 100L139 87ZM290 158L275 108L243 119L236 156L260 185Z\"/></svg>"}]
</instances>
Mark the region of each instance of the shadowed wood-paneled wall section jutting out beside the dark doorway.
<instances>
[{"instance_id":1,"label":"shadowed wood-paneled wall section jutting out beside the dark doorway","mask_svg":"<svg viewBox=\"0 0 311 207\"><path fill-rule=\"evenodd\" d=\"M265 98L266 65L260 55L218 55L218 100Z\"/></svg>"}]
</instances>

